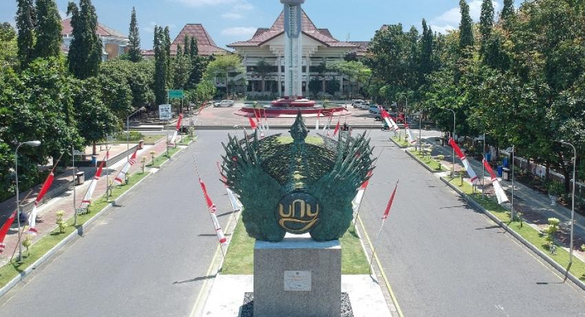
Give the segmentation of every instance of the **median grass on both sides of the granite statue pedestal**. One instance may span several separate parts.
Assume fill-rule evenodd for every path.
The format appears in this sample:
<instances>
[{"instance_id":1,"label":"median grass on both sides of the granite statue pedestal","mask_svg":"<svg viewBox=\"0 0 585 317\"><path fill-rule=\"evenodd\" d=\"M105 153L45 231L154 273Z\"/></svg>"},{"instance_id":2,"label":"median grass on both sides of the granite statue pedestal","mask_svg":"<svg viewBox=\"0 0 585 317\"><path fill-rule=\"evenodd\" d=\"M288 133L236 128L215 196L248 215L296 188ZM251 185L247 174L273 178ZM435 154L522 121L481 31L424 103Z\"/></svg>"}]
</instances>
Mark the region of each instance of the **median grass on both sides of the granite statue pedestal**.
<instances>
[{"instance_id":1,"label":"median grass on both sides of the granite statue pedestal","mask_svg":"<svg viewBox=\"0 0 585 317\"><path fill-rule=\"evenodd\" d=\"M363 253L363 248L353 229L341 237L341 274L368 274L370 266ZM254 273L255 239L248 236L240 217L226 254L223 274Z\"/></svg>"}]
</instances>

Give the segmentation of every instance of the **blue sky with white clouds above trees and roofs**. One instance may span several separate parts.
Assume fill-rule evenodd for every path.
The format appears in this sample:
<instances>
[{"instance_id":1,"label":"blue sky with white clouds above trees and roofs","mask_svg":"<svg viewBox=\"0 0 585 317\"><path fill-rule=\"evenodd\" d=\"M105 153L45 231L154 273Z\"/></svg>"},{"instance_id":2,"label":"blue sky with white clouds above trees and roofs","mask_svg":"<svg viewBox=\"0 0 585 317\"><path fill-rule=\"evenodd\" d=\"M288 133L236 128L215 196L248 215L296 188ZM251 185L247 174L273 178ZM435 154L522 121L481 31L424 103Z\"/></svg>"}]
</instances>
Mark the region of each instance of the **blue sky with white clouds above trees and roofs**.
<instances>
[{"instance_id":1,"label":"blue sky with white clouds above trees and roofs","mask_svg":"<svg viewBox=\"0 0 585 317\"><path fill-rule=\"evenodd\" d=\"M63 17L67 0L57 0ZM98 20L127 34L132 6L136 6L142 48L151 48L154 25L169 25L174 39L185 23L202 23L215 43L246 40L256 28L270 27L282 5L279 0L93 0ZM479 19L481 1L467 0L471 16ZM493 1L497 10L502 0ZM516 1L516 5L521 0ZM433 30L445 32L459 25L458 0L306 0L303 5L317 28L329 28L339 40L369 41L383 24L403 23L421 28L427 19ZM14 25L15 0L0 1L0 22Z\"/></svg>"}]
</instances>

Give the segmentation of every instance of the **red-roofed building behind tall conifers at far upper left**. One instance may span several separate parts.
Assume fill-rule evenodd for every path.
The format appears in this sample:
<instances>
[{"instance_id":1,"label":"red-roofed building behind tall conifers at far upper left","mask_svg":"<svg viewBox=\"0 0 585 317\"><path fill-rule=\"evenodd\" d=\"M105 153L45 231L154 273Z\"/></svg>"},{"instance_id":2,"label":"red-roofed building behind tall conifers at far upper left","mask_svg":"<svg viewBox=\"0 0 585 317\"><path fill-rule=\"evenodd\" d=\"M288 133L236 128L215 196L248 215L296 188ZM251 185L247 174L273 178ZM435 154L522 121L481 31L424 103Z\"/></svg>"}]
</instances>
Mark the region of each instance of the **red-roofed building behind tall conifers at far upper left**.
<instances>
[{"instance_id":1,"label":"red-roofed building behind tall conifers at far upper left","mask_svg":"<svg viewBox=\"0 0 585 317\"><path fill-rule=\"evenodd\" d=\"M71 19L65 19L61 21L61 36L63 37L63 52L67 54L69 52L69 46L73 39L72 36L73 28L71 26ZM113 59L126 52L128 45L128 37L113 28L109 28L106 25L98 23L96 33L102 40L102 60Z\"/></svg>"}]
</instances>

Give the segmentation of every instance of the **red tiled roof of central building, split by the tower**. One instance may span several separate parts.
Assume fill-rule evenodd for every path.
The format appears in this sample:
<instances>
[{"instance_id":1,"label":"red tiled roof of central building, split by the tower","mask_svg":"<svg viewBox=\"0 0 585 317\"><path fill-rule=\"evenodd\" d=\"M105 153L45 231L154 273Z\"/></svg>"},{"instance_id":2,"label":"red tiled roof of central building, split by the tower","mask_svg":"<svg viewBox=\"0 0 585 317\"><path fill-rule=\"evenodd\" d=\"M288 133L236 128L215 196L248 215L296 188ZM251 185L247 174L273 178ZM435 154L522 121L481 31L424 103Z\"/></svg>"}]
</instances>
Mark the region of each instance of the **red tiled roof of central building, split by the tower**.
<instances>
[{"instance_id":1,"label":"red tiled roof of central building, split by the tower","mask_svg":"<svg viewBox=\"0 0 585 317\"><path fill-rule=\"evenodd\" d=\"M302 32L315 39L326 46L330 47L341 47L341 48L356 48L356 45L348 42L338 41L331 36L331 33L328 29L318 29L314 23L312 23L311 19L308 17L306 12L302 10L301 16L301 30ZM248 41L239 41L235 43L231 43L227 45L228 48L233 48L237 46L258 46L266 43L266 41L270 41L275 37L279 36L284 32L284 10L280 12L279 16L277 17L276 21L274 21L273 25L269 28L259 28L256 30L252 39Z\"/></svg>"}]
</instances>

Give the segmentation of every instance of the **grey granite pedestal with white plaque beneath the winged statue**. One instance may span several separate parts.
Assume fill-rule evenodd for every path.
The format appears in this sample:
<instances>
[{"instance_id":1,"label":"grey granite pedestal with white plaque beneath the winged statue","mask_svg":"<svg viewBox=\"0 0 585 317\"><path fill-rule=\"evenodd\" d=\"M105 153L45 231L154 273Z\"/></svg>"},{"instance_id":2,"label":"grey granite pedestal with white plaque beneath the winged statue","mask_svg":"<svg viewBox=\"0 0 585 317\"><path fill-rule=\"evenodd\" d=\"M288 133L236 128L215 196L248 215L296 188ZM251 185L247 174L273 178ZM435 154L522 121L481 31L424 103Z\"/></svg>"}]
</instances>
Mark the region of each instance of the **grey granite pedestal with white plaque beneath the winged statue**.
<instances>
[{"instance_id":1,"label":"grey granite pedestal with white plaque beneath the winged statue","mask_svg":"<svg viewBox=\"0 0 585 317\"><path fill-rule=\"evenodd\" d=\"M255 317L339 317L341 245L308 234L254 247Z\"/></svg>"}]
</instances>

